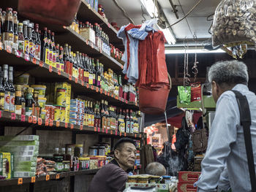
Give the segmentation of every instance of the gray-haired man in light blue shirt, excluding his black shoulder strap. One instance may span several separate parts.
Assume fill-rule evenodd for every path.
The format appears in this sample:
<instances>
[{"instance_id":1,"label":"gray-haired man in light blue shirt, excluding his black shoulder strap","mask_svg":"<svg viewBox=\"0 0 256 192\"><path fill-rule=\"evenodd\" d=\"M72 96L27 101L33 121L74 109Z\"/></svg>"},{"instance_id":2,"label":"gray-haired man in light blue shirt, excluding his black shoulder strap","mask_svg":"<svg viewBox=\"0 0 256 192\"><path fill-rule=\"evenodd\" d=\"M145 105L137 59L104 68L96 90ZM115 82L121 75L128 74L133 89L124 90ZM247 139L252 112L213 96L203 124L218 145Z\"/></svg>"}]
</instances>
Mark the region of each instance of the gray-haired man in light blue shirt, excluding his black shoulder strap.
<instances>
[{"instance_id":1,"label":"gray-haired man in light blue shirt, excluding his black shoulder strap","mask_svg":"<svg viewBox=\"0 0 256 192\"><path fill-rule=\"evenodd\" d=\"M247 88L247 67L239 61L221 61L211 66L208 79L217 102L216 115L202 161L202 172L195 185L198 191L216 191L220 176L227 167L233 192L252 191L246 158L244 130L233 91L246 96L252 118L252 148L256 147L256 96ZM233 91L231 91L233 90ZM256 160L256 151L253 153ZM255 162L256 165L256 162ZM223 179L223 178L222 178Z\"/></svg>"}]
</instances>

